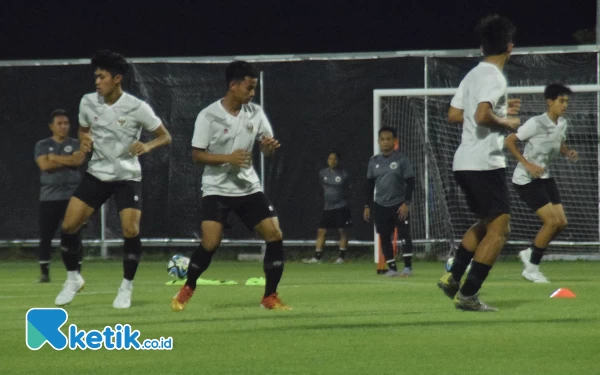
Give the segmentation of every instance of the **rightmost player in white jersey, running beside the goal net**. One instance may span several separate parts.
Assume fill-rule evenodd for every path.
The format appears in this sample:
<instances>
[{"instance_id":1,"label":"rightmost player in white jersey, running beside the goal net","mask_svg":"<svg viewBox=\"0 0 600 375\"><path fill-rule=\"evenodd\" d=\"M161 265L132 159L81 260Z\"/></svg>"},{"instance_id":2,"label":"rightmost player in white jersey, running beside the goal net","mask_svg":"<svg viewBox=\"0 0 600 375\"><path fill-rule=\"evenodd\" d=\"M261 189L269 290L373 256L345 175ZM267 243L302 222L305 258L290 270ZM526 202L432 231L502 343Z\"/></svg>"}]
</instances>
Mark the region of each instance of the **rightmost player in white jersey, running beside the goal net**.
<instances>
[{"instance_id":1,"label":"rightmost player in white jersey, running beside the goal net","mask_svg":"<svg viewBox=\"0 0 600 375\"><path fill-rule=\"evenodd\" d=\"M577 151L565 143L567 120L563 117L569 104L571 89L561 84L551 84L544 90L548 111L532 117L516 134L506 137L504 144L519 161L513 173L513 186L517 194L542 220L542 228L531 247L519 253L525 268L523 277L534 283L548 283L540 272L539 264L550 241L567 226L567 217L560 200L556 181L549 166L558 154L571 162L577 161ZM517 141L527 142L523 154Z\"/></svg>"}]
</instances>

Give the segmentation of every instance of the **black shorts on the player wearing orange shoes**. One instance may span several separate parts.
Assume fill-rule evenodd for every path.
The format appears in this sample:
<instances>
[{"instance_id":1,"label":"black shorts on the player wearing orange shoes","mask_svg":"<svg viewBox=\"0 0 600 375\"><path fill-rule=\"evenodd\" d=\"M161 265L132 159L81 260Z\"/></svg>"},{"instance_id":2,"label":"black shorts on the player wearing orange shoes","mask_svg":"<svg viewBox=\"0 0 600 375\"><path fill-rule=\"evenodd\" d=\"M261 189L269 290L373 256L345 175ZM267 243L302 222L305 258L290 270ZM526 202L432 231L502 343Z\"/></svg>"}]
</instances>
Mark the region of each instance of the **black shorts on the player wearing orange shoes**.
<instances>
[{"instance_id":1,"label":"black shorts on the player wearing orange shoes","mask_svg":"<svg viewBox=\"0 0 600 375\"><path fill-rule=\"evenodd\" d=\"M227 218L233 211L249 230L254 230L264 219L277 216L262 191L241 197L208 195L202 198L202 211L202 221L217 221L224 227L228 226Z\"/></svg>"}]
</instances>

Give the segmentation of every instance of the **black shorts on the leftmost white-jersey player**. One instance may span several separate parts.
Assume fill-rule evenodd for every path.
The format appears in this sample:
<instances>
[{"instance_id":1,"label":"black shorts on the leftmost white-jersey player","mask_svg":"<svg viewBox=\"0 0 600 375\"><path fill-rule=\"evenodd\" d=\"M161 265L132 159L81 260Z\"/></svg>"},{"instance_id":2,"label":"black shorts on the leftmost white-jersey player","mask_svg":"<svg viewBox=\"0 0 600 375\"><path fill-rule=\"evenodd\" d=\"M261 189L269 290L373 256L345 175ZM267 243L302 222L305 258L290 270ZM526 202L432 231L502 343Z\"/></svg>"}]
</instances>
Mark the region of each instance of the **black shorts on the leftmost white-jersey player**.
<instances>
[{"instance_id":1,"label":"black shorts on the leftmost white-jersey player","mask_svg":"<svg viewBox=\"0 0 600 375\"><path fill-rule=\"evenodd\" d=\"M118 212L126 208L142 209L142 183L139 181L101 181L86 173L73 196L95 210L111 196L115 198Z\"/></svg>"}]
</instances>

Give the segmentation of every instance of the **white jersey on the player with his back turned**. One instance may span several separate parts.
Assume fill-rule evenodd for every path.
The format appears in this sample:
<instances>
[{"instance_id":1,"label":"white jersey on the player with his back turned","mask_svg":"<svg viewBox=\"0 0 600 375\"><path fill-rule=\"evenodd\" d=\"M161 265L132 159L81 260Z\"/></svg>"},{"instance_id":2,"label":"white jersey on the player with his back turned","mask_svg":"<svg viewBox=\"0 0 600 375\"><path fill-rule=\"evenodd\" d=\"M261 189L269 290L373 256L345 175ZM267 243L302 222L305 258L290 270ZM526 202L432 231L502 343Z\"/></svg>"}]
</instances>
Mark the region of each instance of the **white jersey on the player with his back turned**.
<instances>
[{"instance_id":1,"label":"white jersey on the player with his back turned","mask_svg":"<svg viewBox=\"0 0 600 375\"><path fill-rule=\"evenodd\" d=\"M450 105L463 110L460 146L454 154L454 171L488 171L506 168L504 130L479 126L475 111L479 103L490 103L499 117L506 117L506 78L494 64L481 62L465 76Z\"/></svg>"}]
</instances>

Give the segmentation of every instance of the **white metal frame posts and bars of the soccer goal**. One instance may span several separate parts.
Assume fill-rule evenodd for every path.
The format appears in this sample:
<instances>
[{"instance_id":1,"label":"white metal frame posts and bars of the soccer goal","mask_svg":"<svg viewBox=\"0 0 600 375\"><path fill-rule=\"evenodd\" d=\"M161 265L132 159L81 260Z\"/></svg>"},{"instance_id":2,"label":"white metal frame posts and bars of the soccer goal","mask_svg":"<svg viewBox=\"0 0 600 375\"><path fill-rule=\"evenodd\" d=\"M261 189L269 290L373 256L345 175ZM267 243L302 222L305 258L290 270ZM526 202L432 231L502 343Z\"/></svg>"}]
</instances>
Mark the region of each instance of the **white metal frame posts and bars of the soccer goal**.
<instances>
[{"instance_id":1,"label":"white metal frame posts and bars of the soccer goal","mask_svg":"<svg viewBox=\"0 0 600 375\"><path fill-rule=\"evenodd\" d=\"M599 77L600 79L600 77ZM569 88L574 92L596 92L598 93L598 116L597 116L597 129L600 134L600 84L597 85L572 85ZM521 87L509 87L508 94L543 94L545 86L521 86ZM379 144L377 142L378 132L381 128L381 98L392 97L392 96L409 96L409 97L422 97L425 101L424 106L424 134L425 143L429 143L428 133L428 108L427 98L430 96L452 96L456 92L456 88L413 88L413 89L375 89L373 90L373 155L380 152ZM598 142L598 163L600 165L600 141ZM429 181L429 172L427 166L429 165L428 155L425 153L425 174L423 176L424 181ZM598 171L598 214L600 215L600 169ZM600 236L600 226L598 227L598 234ZM600 237L599 237L600 238ZM413 243L437 243L447 242L449 239L430 238L429 230L429 188L425 189L425 239L414 240ZM508 241L509 244L526 245L525 241ZM572 242L572 241L553 241L555 245L578 245L578 246L600 246L600 241L592 242ZM379 261L379 241L377 241L377 232L375 226L373 226L373 257L375 263Z\"/></svg>"}]
</instances>

